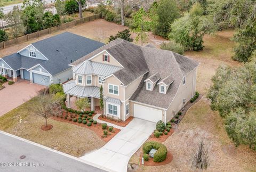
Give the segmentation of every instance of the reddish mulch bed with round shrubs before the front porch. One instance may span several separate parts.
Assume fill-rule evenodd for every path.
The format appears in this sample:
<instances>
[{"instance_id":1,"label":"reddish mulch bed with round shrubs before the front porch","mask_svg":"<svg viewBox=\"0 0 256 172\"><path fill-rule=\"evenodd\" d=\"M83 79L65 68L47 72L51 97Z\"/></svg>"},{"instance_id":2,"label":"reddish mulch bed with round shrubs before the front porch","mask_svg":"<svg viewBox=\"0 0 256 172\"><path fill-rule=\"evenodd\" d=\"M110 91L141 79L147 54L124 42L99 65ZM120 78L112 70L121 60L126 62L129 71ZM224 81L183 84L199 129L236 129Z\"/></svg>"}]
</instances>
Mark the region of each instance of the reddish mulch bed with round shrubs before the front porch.
<instances>
[{"instance_id":1,"label":"reddish mulch bed with round shrubs before the front porch","mask_svg":"<svg viewBox=\"0 0 256 172\"><path fill-rule=\"evenodd\" d=\"M76 118L79 117L78 114L74 114L74 113L69 113L69 112L64 112L65 114L68 114L68 116L70 116L70 114L74 116L76 116ZM94 116L95 114L93 114ZM92 116L92 117L93 117ZM90 118L92 118L90 117ZM81 127L85 127L85 128L89 128L91 130L93 130L93 132L95 132L95 134L97 134L101 140L103 140L104 142L108 142L111 140L111 138L113 138L118 132L120 132L120 129L117 129L117 128L113 128L113 131L112 132L109 132L108 131L108 136L107 137L103 137L103 129L101 128L101 124L100 123L97 123L97 124L92 124L90 127L87 126L86 124L83 124L83 123L78 123L78 122L73 122L73 120L69 121L68 119L65 119L65 118L61 118L61 117L51 117L52 119L54 120L58 120L58 121L61 121L61 122L67 122L67 123L70 123L70 124L74 124L74 125L77 125L77 126L81 126ZM87 122L89 122L87 120ZM86 133L85 133L86 134Z\"/></svg>"}]
</instances>

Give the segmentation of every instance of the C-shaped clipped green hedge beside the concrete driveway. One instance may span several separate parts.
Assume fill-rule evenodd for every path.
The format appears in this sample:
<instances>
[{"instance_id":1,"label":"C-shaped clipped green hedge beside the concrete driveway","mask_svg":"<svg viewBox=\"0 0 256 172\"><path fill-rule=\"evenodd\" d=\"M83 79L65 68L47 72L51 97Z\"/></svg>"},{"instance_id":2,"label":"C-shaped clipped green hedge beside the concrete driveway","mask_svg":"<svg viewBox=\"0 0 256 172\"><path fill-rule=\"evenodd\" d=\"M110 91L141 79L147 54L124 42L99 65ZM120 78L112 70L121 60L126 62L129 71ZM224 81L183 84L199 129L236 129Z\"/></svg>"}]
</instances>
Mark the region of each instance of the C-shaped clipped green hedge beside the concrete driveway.
<instances>
[{"instance_id":1,"label":"C-shaped clipped green hedge beside the concrete driveway","mask_svg":"<svg viewBox=\"0 0 256 172\"><path fill-rule=\"evenodd\" d=\"M166 159L167 156L167 148L164 144L151 141L146 142L142 146L143 153L149 153L151 149L156 149L157 151L154 154L154 162L162 162Z\"/></svg>"}]
</instances>

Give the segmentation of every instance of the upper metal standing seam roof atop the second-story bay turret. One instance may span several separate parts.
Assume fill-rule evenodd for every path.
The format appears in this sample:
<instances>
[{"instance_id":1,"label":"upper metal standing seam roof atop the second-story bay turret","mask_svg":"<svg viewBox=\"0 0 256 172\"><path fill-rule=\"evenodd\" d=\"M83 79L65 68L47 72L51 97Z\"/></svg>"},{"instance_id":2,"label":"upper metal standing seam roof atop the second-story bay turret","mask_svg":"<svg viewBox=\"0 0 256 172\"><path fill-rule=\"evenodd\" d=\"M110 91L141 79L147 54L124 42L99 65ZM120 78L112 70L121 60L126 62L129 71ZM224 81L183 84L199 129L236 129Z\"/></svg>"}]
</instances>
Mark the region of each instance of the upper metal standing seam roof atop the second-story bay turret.
<instances>
[{"instance_id":1,"label":"upper metal standing seam roof atop the second-story bay turret","mask_svg":"<svg viewBox=\"0 0 256 172\"><path fill-rule=\"evenodd\" d=\"M73 72L81 75L95 74L95 75L106 77L120 69L121 69L120 67L117 67L115 65L109 65L109 64L86 60L83 63L74 67Z\"/></svg>"}]
</instances>

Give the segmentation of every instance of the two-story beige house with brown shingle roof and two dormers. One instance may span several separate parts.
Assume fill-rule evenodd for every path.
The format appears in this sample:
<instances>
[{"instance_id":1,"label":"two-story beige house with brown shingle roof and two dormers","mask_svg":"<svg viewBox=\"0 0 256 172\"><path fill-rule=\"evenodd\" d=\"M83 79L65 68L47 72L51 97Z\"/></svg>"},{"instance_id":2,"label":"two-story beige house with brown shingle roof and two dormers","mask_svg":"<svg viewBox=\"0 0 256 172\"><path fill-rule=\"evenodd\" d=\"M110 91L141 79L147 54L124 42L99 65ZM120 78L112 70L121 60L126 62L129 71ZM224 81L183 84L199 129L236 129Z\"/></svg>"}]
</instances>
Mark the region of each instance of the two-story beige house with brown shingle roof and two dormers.
<instances>
[{"instance_id":1,"label":"two-story beige house with brown shingle roof and two dormers","mask_svg":"<svg viewBox=\"0 0 256 172\"><path fill-rule=\"evenodd\" d=\"M70 96L90 97L93 110L102 86L107 116L166 122L195 95L199 63L116 39L70 65L74 80L63 84L68 107Z\"/></svg>"}]
</instances>

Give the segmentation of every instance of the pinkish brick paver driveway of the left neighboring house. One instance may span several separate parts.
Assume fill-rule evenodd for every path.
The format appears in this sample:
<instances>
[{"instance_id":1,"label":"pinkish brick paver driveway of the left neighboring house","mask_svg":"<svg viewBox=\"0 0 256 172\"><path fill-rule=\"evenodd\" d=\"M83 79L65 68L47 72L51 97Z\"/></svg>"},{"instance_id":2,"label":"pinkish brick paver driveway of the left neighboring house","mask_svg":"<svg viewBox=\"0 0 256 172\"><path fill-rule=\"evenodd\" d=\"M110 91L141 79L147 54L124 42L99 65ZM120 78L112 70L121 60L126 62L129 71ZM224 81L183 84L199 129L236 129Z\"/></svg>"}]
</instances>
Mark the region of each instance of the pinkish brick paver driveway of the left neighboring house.
<instances>
[{"instance_id":1,"label":"pinkish brick paver driveway of the left neighboring house","mask_svg":"<svg viewBox=\"0 0 256 172\"><path fill-rule=\"evenodd\" d=\"M13 85L5 83L4 86L5 88L0 91L0 116L30 100L38 94L39 90L45 88L43 85L30 83L23 79Z\"/></svg>"}]
</instances>

